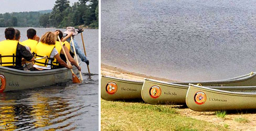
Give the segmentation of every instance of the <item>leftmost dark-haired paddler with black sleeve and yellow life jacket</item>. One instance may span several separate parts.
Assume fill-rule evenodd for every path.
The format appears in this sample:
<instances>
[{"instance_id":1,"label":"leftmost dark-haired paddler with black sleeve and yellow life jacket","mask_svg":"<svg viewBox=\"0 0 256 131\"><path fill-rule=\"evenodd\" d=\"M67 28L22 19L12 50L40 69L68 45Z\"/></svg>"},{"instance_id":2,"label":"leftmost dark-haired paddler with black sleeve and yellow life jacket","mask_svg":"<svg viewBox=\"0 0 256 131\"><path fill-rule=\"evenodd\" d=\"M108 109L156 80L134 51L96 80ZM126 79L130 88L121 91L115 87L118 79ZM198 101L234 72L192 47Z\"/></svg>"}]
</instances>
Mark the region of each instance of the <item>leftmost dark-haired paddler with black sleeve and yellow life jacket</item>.
<instances>
[{"instance_id":1,"label":"leftmost dark-haired paddler with black sleeve and yellow life jacket","mask_svg":"<svg viewBox=\"0 0 256 131\"><path fill-rule=\"evenodd\" d=\"M5 29L6 40L0 42L0 65L13 69L23 70L22 58L31 62L33 55L19 41L15 40L15 29Z\"/></svg>"}]
</instances>

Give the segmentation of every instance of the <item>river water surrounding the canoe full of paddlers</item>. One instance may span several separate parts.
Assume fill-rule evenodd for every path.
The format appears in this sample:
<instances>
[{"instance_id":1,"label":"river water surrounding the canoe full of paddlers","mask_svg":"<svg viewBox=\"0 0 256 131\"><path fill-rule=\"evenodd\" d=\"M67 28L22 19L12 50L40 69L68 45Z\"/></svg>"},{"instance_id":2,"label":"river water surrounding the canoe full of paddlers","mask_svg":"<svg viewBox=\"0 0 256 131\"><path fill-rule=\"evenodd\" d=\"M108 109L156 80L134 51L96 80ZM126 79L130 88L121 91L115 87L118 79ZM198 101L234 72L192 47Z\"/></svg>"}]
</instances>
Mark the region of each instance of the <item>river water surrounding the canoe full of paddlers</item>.
<instances>
[{"instance_id":1,"label":"river water surrounding the canoe full of paddlers","mask_svg":"<svg viewBox=\"0 0 256 131\"><path fill-rule=\"evenodd\" d=\"M4 40L0 28L0 40ZM26 40L28 28L21 32ZM55 28L34 28L41 37ZM60 29L65 31L65 29ZM83 82L72 81L44 88L0 93L0 130L98 130L99 129L99 34L98 29L83 32L91 77L82 62ZM74 37L83 51L81 35Z\"/></svg>"}]
</instances>

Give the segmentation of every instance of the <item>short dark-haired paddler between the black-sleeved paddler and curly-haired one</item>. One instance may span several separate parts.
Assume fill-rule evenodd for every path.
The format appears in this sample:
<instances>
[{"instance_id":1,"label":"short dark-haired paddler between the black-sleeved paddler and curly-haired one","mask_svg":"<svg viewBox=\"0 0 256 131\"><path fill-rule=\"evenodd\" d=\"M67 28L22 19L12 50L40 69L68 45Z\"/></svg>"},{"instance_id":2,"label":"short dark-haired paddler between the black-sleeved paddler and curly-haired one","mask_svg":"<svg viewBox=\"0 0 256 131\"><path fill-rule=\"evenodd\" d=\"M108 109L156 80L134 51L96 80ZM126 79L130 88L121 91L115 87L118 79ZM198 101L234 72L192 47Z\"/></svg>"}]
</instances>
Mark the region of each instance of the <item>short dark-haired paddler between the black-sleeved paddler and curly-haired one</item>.
<instances>
[{"instance_id":1,"label":"short dark-haired paddler between the black-sleeved paddler and curly-haired one","mask_svg":"<svg viewBox=\"0 0 256 131\"><path fill-rule=\"evenodd\" d=\"M31 53L33 53L35 57L35 50L36 50L36 45L39 42L40 38L36 35L36 30L35 29L28 29L27 30L27 40L22 42L23 46L28 46L30 48Z\"/></svg>"}]
</instances>

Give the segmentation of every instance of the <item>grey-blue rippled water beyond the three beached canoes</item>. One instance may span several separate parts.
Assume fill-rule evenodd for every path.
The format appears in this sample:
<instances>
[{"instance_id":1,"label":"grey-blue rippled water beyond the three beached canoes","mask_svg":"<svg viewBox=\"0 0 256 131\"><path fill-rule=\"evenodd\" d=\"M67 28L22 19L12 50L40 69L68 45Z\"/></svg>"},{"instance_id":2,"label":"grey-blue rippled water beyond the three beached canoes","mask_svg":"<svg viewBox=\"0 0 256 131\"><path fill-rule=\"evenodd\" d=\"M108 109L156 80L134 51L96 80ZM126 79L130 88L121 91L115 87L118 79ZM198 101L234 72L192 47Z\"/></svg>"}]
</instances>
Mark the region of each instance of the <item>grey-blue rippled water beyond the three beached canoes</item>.
<instances>
[{"instance_id":1,"label":"grey-blue rippled water beyond the three beached canoes","mask_svg":"<svg viewBox=\"0 0 256 131\"><path fill-rule=\"evenodd\" d=\"M180 81L255 71L255 1L102 1L101 62Z\"/></svg>"}]
</instances>

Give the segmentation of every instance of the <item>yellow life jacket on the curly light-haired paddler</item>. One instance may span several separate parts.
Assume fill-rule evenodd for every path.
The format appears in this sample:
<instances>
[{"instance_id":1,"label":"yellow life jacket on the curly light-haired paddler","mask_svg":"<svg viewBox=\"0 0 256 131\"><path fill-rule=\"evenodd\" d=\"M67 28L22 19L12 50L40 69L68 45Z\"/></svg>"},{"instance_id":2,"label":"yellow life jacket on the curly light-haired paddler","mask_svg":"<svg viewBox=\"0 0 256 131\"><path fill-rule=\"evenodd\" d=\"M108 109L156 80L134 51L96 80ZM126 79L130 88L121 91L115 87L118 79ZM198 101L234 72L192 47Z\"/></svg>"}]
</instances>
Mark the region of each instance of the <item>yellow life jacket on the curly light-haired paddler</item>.
<instances>
[{"instance_id":1,"label":"yellow life jacket on the curly light-haired paddler","mask_svg":"<svg viewBox=\"0 0 256 131\"><path fill-rule=\"evenodd\" d=\"M40 59L36 60L35 64L40 65L42 67L47 67L47 65L52 65L52 62L54 61L54 58L50 58L52 50L55 48L55 45L48 45L47 43L39 42L36 45L36 58L42 58L44 56L47 56L47 59ZM48 63L49 60L51 60L51 63Z\"/></svg>"}]
</instances>

